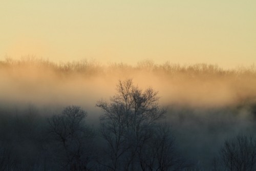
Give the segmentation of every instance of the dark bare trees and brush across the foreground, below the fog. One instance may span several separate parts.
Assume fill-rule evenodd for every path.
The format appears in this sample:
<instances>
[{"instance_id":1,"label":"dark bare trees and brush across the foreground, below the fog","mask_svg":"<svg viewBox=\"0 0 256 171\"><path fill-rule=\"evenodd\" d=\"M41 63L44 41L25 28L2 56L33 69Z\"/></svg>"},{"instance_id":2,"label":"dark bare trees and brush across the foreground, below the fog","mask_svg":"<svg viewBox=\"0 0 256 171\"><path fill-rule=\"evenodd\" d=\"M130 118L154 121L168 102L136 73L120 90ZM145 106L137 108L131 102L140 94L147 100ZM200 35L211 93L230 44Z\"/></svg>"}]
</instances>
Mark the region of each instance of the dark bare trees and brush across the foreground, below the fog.
<instances>
[{"instance_id":1,"label":"dark bare trees and brush across the foreground, below the fog","mask_svg":"<svg viewBox=\"0 0 256 171\"><path fill-rule=\"evenodd\" d=\"M0 170L201 170L177 150L157 92L119 81L110 102L98 101L100 128L87 113L67 106L60 114L1 113ZM210 154L209 154L210 155ZM226 140L210 170L255 170L256 141Z\"/></svg>"}]
</instances>

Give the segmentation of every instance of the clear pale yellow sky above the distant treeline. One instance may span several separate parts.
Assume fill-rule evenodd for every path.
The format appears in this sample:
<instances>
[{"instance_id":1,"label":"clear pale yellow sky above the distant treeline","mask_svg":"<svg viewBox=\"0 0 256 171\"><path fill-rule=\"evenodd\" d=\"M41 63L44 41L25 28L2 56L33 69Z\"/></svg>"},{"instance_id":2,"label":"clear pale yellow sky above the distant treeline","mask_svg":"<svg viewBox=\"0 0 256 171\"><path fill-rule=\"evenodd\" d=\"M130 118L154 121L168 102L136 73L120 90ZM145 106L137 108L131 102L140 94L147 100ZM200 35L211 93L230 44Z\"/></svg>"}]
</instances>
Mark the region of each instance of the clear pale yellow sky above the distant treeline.
<instances>
[{"instance_id":1,"label":"clear pale yellow sky above the distant treeline","mask_svg":"<svg viewBox=\"0 0 256 171\"><path fill-rule=\"evenodd\" d=\"M251 65L255 9L255 0L1 0L0 58Z\"/></svg>"}]
</instances>

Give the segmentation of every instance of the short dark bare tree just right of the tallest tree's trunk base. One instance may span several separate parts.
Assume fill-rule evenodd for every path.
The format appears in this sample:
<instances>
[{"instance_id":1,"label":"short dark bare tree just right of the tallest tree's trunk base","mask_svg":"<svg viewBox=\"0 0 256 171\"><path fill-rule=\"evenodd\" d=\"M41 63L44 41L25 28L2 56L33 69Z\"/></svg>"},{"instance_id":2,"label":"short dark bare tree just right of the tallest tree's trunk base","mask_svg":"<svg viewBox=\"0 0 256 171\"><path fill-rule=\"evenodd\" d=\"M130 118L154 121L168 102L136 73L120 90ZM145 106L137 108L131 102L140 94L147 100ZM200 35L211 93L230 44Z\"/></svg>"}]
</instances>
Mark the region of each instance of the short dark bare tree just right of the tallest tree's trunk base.
<instances>
[{"instance_id":1,"label":"short dark bare tree just right of the tallest tree's trunk base","mask_svg":"<svg viewBox=\"0 0 256 171\"><path fill-rule=\"evenodd\" d=\"M139 153L142 170L181 170L187 167L185 160L178 154L170 125L159 123L153 136Z\"/></svg>"}]
</instances>

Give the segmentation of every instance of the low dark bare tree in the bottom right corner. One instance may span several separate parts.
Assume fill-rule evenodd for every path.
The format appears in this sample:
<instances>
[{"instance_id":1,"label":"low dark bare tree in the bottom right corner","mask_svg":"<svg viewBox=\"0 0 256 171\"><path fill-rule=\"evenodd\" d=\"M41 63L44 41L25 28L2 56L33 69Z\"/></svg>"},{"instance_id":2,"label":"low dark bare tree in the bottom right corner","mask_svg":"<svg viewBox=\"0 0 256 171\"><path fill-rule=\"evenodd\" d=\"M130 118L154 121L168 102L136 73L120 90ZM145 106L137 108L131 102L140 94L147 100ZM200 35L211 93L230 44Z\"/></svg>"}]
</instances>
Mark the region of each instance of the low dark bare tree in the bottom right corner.
<instances>
[{"instance_id":1,"label":"low dark bare tree in the bottom right corner","mask_svg":"<svg viewBox=\"0 0 256 171\"><path fill-rule=\"evenodd\" d=\"M226 140L221 148L221 161L230 171L256 169L256 141L252 136L238 135Z\"/></svg>"}]
</instances>

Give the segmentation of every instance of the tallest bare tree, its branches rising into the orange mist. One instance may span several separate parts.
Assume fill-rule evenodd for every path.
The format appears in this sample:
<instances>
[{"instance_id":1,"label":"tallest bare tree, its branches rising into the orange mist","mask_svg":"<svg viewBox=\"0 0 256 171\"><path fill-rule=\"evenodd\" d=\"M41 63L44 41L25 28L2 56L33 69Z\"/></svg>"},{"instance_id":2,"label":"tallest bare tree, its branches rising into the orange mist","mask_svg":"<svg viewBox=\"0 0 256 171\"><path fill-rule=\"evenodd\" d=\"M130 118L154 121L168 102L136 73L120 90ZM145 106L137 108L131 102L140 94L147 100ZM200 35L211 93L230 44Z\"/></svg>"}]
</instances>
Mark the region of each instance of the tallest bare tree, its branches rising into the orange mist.
<instances>
[{"instance_id":1,"label":"tallest bare tree, its branches rising into the orange mist","mask_svg":"<svg viewBox=\"0 0 256 171\"><path fill-rule=\"evenodd\" d=\"M104 112L101 134L107 142L105 155L110 159L101 164L109 170L136 170L140 164L135 159L165 110L159 108L158 92L151 88L142 91L131 79L119 81L116 90L110 103L101 100L96 104Z\"/></svg>"}]
</instances>

